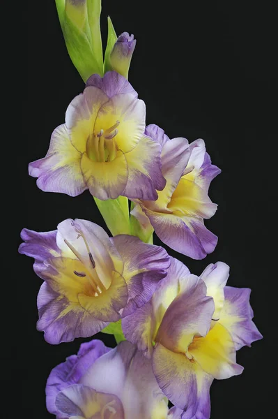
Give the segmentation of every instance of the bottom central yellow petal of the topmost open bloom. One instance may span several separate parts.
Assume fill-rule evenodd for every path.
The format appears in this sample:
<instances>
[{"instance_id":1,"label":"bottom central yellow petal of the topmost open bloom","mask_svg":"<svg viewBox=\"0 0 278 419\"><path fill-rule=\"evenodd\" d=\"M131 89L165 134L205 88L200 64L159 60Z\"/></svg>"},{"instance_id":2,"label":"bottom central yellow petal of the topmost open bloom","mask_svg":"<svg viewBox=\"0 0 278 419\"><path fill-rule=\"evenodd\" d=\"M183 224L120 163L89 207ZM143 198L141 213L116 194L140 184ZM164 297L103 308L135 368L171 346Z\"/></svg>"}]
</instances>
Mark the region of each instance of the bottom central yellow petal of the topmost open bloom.
<instances>
[{"instance_id":1,"label":"bottom central yellow petal of the topmost open bloom","mask_svg":"<svg viewBox=\"0 0 278 419\"><path fill-rule=\"evenodd\" d=\"M81 169L89 191L101 200L118 198L128 182L128 163L121 150L118 150L116 159L104 162L92 161L84 153Z\"/></svg>"}]
</instances>

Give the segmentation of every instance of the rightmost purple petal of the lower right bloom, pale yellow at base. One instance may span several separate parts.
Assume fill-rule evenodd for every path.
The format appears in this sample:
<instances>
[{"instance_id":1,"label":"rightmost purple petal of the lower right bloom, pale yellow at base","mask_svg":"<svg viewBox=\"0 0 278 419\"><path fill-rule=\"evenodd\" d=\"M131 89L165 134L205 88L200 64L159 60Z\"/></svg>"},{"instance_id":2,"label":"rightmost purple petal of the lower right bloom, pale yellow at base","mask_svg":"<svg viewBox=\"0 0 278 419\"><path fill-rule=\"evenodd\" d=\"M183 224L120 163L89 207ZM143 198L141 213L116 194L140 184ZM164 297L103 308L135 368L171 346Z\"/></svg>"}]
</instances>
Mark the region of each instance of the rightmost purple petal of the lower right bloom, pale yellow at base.
<instances>
[{"instance_id":1,"label":"rightmost purple petal of the lower right bloom, pale yellow at base","mask_svg":"<svg viewBox=\"0 0 278 419\"><path fill-rule=\"evenodd\" d=\"M233 337L235 349L251 346L252 342L263 336L253 323L253 311L249 303L251 290L249 288L234 288L225 286L225 303L221 312L221 323Z\"/></svg>"}]
</instances>

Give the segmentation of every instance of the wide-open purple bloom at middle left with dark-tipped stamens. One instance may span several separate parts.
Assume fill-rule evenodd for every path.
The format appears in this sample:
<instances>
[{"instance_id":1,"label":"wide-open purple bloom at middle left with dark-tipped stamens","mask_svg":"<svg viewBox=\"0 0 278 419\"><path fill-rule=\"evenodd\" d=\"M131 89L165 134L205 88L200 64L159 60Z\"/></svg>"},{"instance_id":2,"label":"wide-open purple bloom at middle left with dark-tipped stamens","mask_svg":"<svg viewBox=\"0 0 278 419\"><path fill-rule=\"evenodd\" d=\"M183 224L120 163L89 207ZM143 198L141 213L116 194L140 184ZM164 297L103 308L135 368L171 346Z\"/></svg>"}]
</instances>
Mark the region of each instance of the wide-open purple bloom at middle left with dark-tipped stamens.
<instances>
[{"instance_id":1,"label":"wide-open purple bloom at middle left with dark-tipped stamens","mask_svg":"<svg viewBox=\"0 0 278 419\"><path fill-rule=\"evenodd\" d=\"M58 230L22 230L20 253L35 258L45 282L38 293L38 330L51 344L89 337L131 314L167 274L162 247L137 237L109 238L95 223L67 219Z\"/></svg>"}]
</instances>

